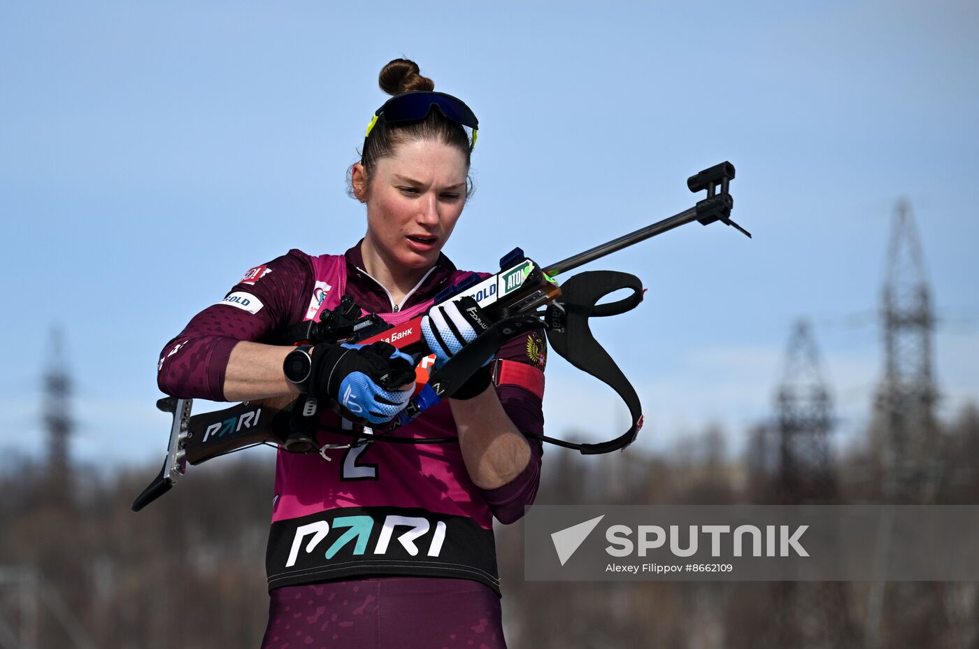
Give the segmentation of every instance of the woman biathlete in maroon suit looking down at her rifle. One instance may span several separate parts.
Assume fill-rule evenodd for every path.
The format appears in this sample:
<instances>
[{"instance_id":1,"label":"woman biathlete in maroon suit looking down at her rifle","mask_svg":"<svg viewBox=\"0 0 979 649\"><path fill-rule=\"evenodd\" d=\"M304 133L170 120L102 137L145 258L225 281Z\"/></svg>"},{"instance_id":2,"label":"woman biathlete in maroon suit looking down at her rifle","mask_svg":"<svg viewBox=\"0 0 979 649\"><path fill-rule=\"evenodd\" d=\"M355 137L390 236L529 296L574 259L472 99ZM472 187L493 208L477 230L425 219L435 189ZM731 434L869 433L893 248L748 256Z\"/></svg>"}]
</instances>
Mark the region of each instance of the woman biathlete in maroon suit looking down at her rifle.
<instances>
[{"instance_id":1,"label":"woman biathlete in maroon suit looking down at her rifle","mask_svg":"<svg viewBox=\"0 0 979 649\"><path fill-rule=\"evenodd\" d=\"M523 433L543 433L543 336L508 342L452 398L389 434L457 442L350 443L395 417L479 329L478 309L432 308L474 274L441 251L469 195L476 116L411 61L385 66L380 85L393 98L350 167L364 238L343 255L293 250L250 269L163 348L159 384L181 397L305 393L332 406L316 425L319 454L278 452L262 647L505 647L492 519L516 521L536 494L541 446ZM412 359L387 343L265 343L345 295L393 324L426 314L433 354L414 383ZM387 385L394 375L406 385Z\"/></svg>"}]
</instances>

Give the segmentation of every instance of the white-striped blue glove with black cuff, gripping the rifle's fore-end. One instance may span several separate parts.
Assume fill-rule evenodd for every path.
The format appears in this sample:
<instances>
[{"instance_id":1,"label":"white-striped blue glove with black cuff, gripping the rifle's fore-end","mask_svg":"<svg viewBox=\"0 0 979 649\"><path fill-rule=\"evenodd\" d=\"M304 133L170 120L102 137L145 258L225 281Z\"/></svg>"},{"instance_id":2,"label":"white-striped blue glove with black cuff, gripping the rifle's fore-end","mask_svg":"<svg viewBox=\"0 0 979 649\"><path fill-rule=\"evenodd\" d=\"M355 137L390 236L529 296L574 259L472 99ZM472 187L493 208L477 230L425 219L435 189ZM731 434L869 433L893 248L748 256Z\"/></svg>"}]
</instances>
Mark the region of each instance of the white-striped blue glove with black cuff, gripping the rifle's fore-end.
<instances>
[{"instance_id":1,"label":"white-striped blue glove with black cuff, gripping the rifle's fore-end","mask_svg":"<svg viewBox=\"0 0 979 649\"><path fill-rule=\"evenodd\" d=\"M429 349L435 354L435 369L438 371L448 359L459 352L476 337L489 329L489 318L480 305L471 297L437 304L422 318L422 336ZM466 399L481 394L490 382L489 355L483 366L465 384L452 394L452 398Z\"/></svg>"}]
</instances>

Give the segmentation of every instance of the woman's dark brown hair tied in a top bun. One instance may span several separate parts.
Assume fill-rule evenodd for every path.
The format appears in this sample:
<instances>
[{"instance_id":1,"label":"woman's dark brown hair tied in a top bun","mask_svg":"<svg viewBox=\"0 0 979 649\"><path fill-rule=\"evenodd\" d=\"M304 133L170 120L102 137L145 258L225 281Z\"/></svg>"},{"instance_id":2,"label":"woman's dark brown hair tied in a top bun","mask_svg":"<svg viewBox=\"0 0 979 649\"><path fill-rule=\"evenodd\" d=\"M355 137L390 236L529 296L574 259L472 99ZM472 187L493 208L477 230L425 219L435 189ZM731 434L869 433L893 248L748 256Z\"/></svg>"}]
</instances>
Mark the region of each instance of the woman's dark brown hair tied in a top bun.
<instances>
[{"instance_id":1,"label":"woman's dark brown hair tied in a top bun","mask_svg":"<svg viewBox=\"0 0 979 649\"><path fill-rule=\"evenodd\" d=\"M400 95L413 90L435 90L435 82L427 76L422 76L418 64L408 59L394 59L389 62L381 73L378 74L378 85L389 95ZM364 149L360 154L360 163L366 171L368 183L373 176L374 165L382 158L387 158L395 154L395 148L401 142L407 140L437 140L454 147L462 152L466 159L466 168L469 168L470 146L469 135L462 124L452 121L443 116L440 111L430 111L428 116L418 121L398 122L389 124L384 119L379 119L370 137L364 143ZM353 186L350 182L351 170L347 171L348 193L355 198ZM473 194L473 181L469 174L466 174L466 198Z\"/></svg>"}]
</instances>

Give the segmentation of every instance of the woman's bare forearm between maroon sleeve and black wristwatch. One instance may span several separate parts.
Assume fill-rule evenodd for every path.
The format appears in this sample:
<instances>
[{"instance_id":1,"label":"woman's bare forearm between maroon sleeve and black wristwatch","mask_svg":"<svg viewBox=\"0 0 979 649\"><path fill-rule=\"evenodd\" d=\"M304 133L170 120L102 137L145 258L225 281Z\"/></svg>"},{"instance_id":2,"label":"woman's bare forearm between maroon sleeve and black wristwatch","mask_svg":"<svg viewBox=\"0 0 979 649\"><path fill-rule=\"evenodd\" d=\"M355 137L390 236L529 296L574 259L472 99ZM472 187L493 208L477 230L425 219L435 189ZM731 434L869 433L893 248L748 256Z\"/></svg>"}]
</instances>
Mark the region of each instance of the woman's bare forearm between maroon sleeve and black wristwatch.
<instances>
[{"instance_id":1,"label":"woman's bare forearm between maroon sleeve and black wristwatch","mask_svg":"<svg viewBox=\"0 0 979 649\"><path fill-rule=\"evenodd\" d=\"M293 347L242 341L231 349L224 372L224 398L229 401L299 394L282 373L282 361Z\"/></svg>"}]
</instances>

